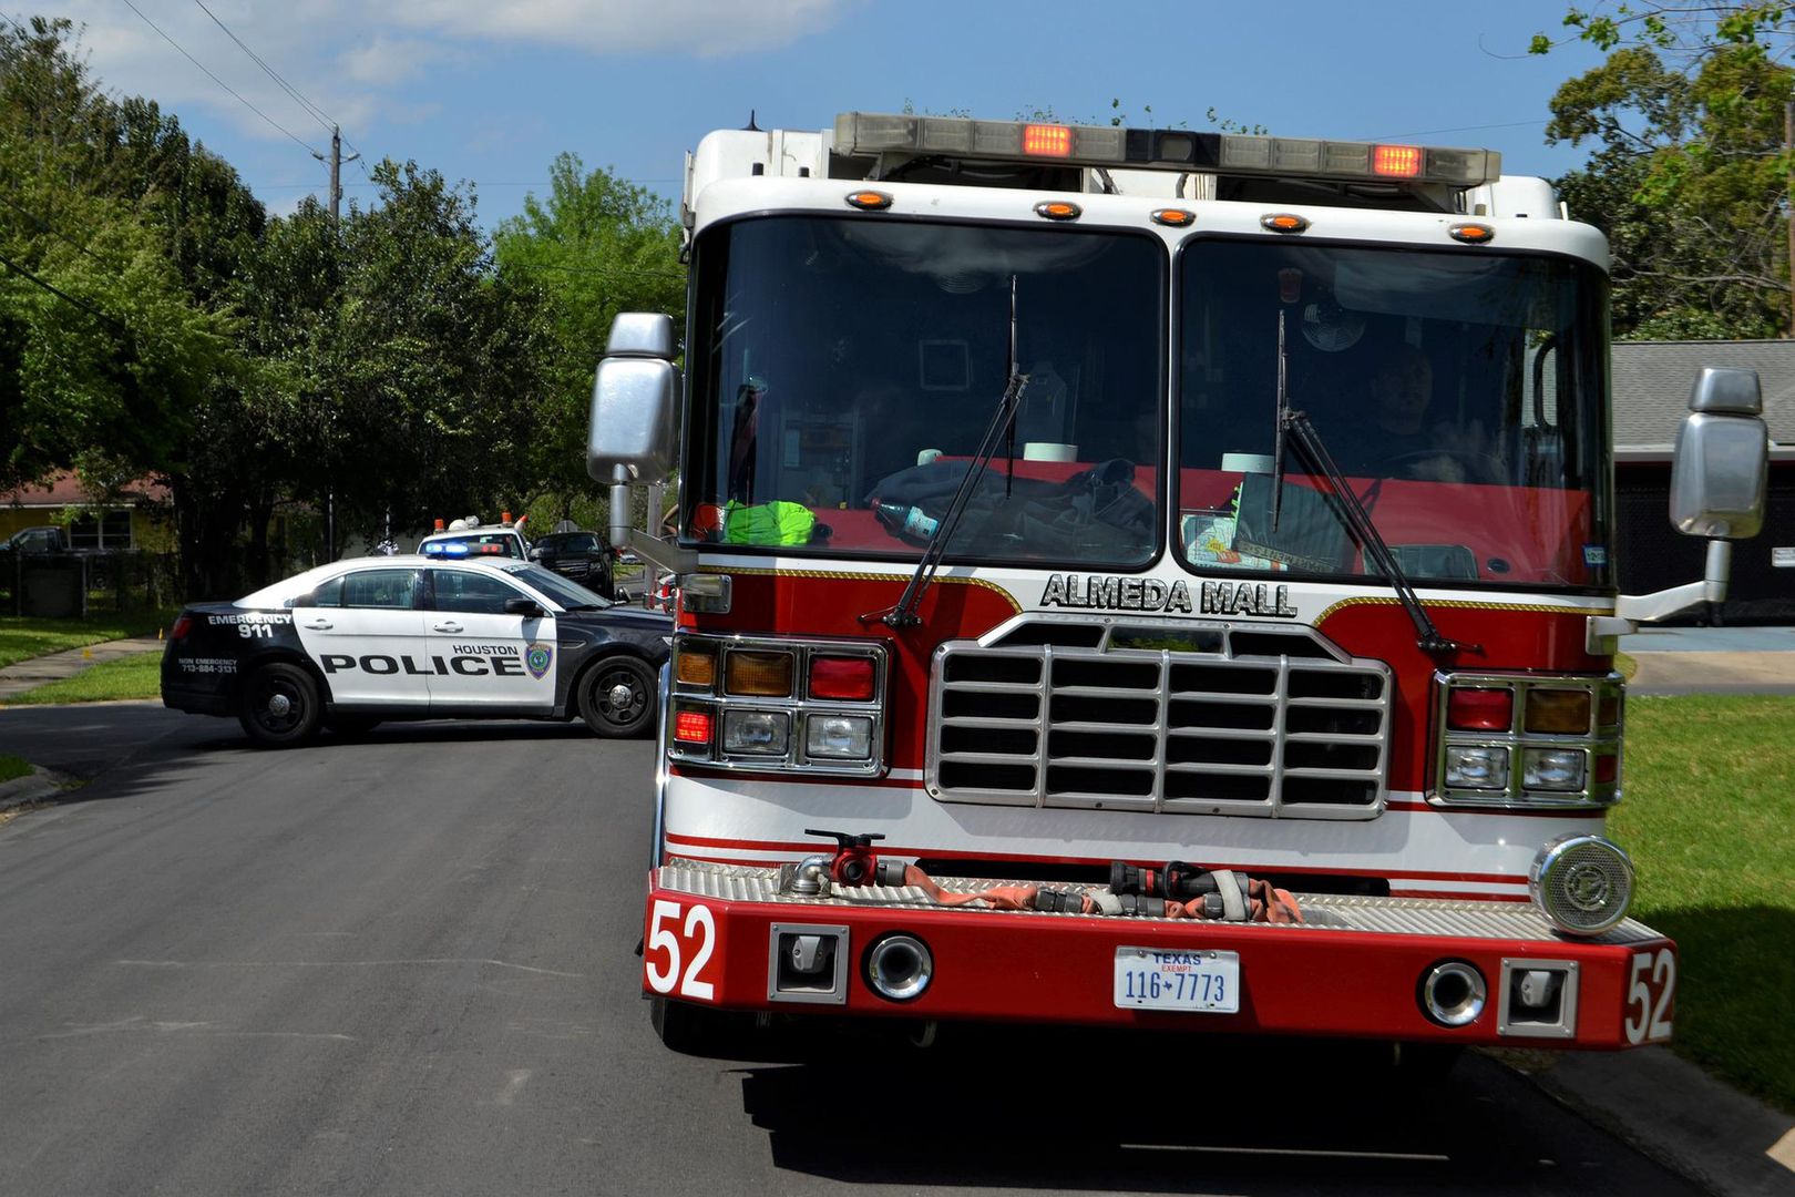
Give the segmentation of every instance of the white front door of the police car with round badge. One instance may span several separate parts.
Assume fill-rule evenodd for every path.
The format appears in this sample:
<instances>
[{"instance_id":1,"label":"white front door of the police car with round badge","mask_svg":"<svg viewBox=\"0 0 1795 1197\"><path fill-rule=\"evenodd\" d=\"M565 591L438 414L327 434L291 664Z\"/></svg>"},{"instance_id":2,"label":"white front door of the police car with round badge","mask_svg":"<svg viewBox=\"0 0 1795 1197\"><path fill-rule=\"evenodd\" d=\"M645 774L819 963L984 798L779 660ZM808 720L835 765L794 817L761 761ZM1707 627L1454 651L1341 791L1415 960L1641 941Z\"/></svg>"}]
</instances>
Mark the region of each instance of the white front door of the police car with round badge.
<instances>
[{"instance_id":1,"label":"white front door of the police car with round badge","mask_svg":"<svg viewBox=\"0 0 1795 1197\"><path fill-rule=\"evenodd\" d=\"M538 599L495 572L436 565L429 616L431 709L445 714L551 714L555 709L555 616L519 616L510 599Z\"/></svg>"}]
</instances>

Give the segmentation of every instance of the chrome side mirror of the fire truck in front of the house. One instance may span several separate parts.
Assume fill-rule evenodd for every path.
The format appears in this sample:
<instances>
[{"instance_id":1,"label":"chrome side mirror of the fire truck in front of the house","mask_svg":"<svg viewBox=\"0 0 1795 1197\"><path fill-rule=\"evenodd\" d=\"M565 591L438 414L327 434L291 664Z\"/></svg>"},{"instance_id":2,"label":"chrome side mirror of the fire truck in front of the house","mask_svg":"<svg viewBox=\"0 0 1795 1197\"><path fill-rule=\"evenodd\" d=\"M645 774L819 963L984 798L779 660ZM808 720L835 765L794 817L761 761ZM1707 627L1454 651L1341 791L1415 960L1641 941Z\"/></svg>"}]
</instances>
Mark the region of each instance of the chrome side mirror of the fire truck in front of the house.
<instances>
[{"instance_id":1,"label":"chrome side mirror of the fire truck in front of the house","mask_svg":"<svg viewBox=\"0 0 1795 1197\"><path fill-rule=\"evenodd\" d=\"M1707 368L1671 459L1671 524L1687 537L1745 540L1764 524L1770 434L1756 370Z\"/></svg>"}]
</instances>

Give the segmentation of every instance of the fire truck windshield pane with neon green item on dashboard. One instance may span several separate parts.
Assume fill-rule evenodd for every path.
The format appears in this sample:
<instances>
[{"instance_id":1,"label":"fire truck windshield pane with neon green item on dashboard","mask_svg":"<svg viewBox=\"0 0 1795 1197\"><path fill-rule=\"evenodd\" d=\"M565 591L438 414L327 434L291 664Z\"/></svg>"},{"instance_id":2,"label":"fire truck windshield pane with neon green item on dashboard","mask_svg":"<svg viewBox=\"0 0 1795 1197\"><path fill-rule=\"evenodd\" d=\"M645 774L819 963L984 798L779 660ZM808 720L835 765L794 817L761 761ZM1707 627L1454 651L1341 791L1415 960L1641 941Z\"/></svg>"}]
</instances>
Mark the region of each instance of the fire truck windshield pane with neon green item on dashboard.
<instances>
[{"instance_id":1,"label":"fire truck windshield pane with neon green item on dashboard","mask_svg":"<svg viewBox=\"0 0 1795 1197\"><path fill-rule=\"evenodd\" d=\"M695 246L687 540L917 556L1011 371L948 560L1158 549L1169 260L1147 233L765 217Z\"/></svg>"}]
</instances>

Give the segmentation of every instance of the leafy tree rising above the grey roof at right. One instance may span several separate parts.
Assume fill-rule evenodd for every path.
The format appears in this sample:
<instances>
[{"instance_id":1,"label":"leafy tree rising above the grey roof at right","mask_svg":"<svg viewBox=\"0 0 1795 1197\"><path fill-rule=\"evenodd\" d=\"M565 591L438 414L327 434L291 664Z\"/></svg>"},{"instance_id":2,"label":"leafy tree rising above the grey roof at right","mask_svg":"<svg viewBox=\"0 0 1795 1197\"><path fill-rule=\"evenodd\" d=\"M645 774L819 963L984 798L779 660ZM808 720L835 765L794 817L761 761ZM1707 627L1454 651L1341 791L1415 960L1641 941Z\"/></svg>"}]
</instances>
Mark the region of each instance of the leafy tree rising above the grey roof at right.
<instances>
[{"instance_id":1,"label":"leafy tree rising above the grey roof at right","mask_svg":"<svg viewBox=\"0 0 1795 1197\"><path fill-rule=\"evenodd\" d=\"M1782 5L1572 11L1608 52L1553 97L1547 142L1594 142L1560 179L1614 248L1623 337L1772 337L1790 327ZM1535 39L1535 52L1554 43Z\"/></svg>"}]
</instances>

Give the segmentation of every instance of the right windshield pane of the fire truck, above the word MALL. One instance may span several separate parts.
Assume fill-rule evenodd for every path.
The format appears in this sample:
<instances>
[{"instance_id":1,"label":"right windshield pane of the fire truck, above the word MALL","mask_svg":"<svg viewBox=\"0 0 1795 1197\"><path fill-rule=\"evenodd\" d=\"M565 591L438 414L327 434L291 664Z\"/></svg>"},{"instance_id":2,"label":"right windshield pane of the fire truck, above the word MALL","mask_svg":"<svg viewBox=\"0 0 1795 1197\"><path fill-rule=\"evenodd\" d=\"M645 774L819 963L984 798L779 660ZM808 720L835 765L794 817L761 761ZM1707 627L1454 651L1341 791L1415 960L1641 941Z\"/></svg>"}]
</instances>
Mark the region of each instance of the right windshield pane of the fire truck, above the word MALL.
<instances>
[{"instance_id":1,"label":"right windshield pane of the fire truck, above the word MALL","mask_svg":"<svg viewBox=\"0 0 1795 1197\"><path fill-rule=\"evenodd\" d=\"M1607 284L1479 249L1186 242L1179 257L1179 549L1197 572L1377 574L1285 458L1285 386L1414 581L1608 581Z\"/></svg>"}]
</instances>

